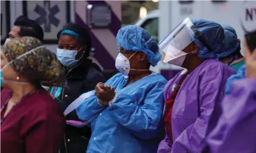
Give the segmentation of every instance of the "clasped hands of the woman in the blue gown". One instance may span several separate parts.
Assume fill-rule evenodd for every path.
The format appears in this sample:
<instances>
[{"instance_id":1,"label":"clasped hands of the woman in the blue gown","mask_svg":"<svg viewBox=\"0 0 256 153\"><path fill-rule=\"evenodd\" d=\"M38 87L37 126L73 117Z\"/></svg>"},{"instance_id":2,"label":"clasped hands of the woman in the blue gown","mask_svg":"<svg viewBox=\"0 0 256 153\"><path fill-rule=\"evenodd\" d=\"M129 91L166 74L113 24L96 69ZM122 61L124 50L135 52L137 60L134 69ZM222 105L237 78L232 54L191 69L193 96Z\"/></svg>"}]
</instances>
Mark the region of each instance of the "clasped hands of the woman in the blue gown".
<instances>
[{"instance_id":1,"label":"clasped hands of the woman in the blue gown","mask_svg":"<svg viewBox=\"0 0 256 153\"><path fill-rule=\"evenodd\" d=\"M108 102L115 97L115 87L104 85L102 82L96 85L95 94L102 105L108 105Z\"/></svg>"}]
</instances>

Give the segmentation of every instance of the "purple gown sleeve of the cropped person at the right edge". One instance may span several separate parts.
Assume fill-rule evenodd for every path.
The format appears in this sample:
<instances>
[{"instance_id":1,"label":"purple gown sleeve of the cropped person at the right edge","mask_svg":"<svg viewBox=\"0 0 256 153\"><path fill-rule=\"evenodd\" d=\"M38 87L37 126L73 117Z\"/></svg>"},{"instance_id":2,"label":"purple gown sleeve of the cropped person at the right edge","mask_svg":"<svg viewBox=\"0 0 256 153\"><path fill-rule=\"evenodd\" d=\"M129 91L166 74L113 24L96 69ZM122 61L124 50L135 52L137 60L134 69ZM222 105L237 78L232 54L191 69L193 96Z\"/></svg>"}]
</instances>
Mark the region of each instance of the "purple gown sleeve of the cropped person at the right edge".
<instances>
[{"instance_id":1,"label":"purple gown sleeve of the cropped person at the right edge","mask_svg":"<svg viewBox=\"0 0 256 153\"><path fill-rule=\"evenodd\" d=\"M256 79L235 80L207 143L211 153L256 152Z\"/></svg>"}]
</instances>

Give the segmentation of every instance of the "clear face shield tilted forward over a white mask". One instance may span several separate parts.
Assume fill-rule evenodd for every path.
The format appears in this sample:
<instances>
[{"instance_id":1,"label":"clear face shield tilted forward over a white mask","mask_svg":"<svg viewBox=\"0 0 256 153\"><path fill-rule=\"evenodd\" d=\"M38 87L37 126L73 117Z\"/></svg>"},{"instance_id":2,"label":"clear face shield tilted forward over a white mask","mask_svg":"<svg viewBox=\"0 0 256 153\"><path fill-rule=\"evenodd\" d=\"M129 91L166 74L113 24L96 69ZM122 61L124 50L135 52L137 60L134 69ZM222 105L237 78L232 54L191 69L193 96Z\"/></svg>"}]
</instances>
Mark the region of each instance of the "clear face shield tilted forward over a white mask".
<instances>
[{"instance_id":1,"label":"clear face shield tilted forward over a white mask","mask_svg":"<svg viewBox=\"0 0 256 153\"><path fill-rule=\"evenodd\" d=\"M197 28L190 18L186 18L158 44L160 50L163 52L162 61L181 66L186 54L194 52L189 48L189 45L199 37L201 36Z\"/></svg>"}]
</instances>

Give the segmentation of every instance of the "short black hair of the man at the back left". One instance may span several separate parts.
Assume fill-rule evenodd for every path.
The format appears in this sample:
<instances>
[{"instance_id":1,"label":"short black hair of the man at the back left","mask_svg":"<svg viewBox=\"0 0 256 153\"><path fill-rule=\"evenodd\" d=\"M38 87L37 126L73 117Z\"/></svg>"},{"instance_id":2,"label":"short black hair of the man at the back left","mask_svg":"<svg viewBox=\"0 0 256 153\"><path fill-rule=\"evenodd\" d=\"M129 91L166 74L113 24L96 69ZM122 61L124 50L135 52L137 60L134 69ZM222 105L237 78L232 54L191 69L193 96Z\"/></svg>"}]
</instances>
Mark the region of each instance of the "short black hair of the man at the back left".
<instances>
[{"instance_id":1,"label":"short black hair of the man at the back left","mask_svg":"<svg viewBox=\"0 0 256 153\"><path fill-rule=\"evenodd\" d=\"M20 26L20 31L18 35L20 37L28 36L35 37L40 41L43 40L43 29L37 24L36 21L29 19L27 16L21 15L14 22L15 26Z\"/></svg>"}]
</instances>

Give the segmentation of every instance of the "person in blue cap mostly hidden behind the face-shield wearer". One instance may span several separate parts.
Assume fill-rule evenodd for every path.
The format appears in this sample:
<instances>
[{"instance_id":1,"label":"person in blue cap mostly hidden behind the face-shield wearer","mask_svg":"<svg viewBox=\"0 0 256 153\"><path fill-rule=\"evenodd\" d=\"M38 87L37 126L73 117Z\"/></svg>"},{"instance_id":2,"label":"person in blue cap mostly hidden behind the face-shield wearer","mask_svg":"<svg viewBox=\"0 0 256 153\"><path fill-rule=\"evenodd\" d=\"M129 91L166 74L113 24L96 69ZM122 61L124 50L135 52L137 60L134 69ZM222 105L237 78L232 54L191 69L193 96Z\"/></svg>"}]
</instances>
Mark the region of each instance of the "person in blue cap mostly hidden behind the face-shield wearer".
<instances>
[{"instance_id":1,"label":"person in blue cap mostly hidden behind the face-shield wearer","mask_svg":"<svg viewBox=\"0 0 256 153\"><path fill-rule=\"evenodd\" d=\"M236 35L235 29L228 25L222 25L224 29L224 40L223 40L223 48L220 54L217 54L218 59L230 66L236 72L238 69L245 64L244 57L241 54L241 46L240 40Z\"/></svg>"}]
</instances>

